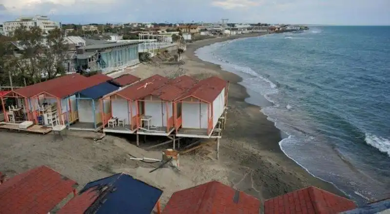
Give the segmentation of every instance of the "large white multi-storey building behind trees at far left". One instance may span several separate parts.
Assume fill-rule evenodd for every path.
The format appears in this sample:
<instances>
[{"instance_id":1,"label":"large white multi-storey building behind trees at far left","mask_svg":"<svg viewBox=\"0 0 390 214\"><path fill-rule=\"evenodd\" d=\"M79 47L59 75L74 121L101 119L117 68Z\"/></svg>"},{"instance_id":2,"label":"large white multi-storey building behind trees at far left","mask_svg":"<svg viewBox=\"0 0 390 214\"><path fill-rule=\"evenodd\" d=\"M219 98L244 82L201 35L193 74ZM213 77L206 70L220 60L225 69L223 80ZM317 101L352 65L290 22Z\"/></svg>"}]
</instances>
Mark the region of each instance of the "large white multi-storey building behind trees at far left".
<instances>
[{"instance_id":1,"label":"large white multi-storey building behind trees at far left","mask_svg":"<svg viewBox=\"0 0 390 214\"><path fill-rule=\"evenodd\" d=\"M48 33L55 28L59 28L59 23L56 21L51 21L47 16L35 16L31 17L20 17L15 21L6 21L3 23L3 31L5 36L12 35L12 33L20 27L21 25L31 28L34 26L42 29L44 33Z\"/></svg>"}]
</instances>

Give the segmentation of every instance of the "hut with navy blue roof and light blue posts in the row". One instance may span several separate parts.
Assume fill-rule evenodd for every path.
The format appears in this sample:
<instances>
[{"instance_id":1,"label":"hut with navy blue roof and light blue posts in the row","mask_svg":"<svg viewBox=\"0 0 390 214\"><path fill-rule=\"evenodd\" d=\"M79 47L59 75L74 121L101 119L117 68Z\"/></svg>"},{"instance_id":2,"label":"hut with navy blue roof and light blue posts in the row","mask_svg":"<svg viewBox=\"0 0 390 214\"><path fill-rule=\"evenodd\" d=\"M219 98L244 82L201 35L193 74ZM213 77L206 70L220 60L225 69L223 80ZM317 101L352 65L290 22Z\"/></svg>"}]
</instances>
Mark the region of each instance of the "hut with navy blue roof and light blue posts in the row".
<instances>
[{"instance_id":1,"label":"hut with navy blue roof and light blue posts in the row","mask_svg":"<svg viewBox=\"0 0 390 214\"><path fill-rule=\"evenodd\" d=\"M73 108L77 111L77 121L69 124L71 130L97 131L101 128L103 120L102 112L109 112L110 109L102 109L99 99L119 89L119 86L112 83L113 78L103 74L97 74L87 78L81 83L75 92L76 105Z\"/></svg>"}]
</instances>

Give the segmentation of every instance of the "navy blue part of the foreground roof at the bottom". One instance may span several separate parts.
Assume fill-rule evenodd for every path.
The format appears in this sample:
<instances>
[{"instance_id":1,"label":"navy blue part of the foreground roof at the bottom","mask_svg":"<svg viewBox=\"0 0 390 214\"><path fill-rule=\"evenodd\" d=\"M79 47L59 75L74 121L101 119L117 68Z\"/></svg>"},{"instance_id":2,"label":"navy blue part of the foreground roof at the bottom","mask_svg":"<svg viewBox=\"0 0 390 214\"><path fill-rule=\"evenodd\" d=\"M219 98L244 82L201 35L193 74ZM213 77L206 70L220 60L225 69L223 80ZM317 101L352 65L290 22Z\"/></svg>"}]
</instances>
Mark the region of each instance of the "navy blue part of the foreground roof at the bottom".
<instances>
[{"instance_id":1,"label":"navy blue part of the foreground roof at the bottom","mask_svg":"<svg viewBox=\"0 0 390 214\"><path fill-rule=\"evenodd\" d=\"M126 174L117 174L88 183L80 191L95 187L111 187L112 190L98 197L100 204L95 214L151 214L162 190Z\"/></svg>"}]
</instances>

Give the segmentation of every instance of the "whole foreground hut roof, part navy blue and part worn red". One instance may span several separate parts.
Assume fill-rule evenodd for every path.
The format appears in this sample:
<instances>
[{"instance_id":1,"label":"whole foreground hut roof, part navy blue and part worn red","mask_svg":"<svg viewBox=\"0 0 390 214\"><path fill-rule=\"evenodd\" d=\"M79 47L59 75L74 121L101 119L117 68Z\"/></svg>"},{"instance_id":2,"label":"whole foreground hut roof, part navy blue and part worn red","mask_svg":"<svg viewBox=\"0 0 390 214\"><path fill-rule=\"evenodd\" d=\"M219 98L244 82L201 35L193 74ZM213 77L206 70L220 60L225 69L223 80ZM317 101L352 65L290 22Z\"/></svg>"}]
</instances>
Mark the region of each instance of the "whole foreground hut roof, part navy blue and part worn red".
<instances>
[{"instance_id":1,"label":"whole foreground hut roof, part navy blue and part worn red","mask_svg":"<svg viewBox=\"0 0 390 214\"><path fill-rule=\"evenodd\" d=\"M92 181L57 214L160 214L162 191L130 175Z\"/></svg>"}]
</instances>

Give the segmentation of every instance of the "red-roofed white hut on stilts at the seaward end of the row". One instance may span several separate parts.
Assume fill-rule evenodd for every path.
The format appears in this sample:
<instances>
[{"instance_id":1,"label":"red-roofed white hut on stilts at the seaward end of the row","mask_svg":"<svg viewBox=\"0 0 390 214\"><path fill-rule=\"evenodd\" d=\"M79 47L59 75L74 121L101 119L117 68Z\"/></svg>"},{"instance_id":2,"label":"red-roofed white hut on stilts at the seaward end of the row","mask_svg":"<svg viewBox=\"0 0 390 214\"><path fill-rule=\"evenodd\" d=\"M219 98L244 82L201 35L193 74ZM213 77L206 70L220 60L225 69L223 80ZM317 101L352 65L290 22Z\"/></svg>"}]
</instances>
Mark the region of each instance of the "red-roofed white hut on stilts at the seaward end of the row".
<instances>
[{"instance_id":1,"label":"red-roofed white hut on stilts at the seaward end of the row","mask_svg":"<svg viewBox=\"0 0 390 214\"><path fill-rule=\"evenodd\" d=\"M210 77L197 82L181 97L176 98L176 136L220 138L213 132L226 112L228 82ZM225 118L225 117L224 117Z\"/></svg>"}]
</instances>

